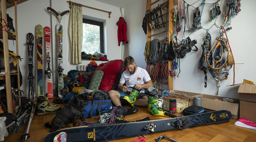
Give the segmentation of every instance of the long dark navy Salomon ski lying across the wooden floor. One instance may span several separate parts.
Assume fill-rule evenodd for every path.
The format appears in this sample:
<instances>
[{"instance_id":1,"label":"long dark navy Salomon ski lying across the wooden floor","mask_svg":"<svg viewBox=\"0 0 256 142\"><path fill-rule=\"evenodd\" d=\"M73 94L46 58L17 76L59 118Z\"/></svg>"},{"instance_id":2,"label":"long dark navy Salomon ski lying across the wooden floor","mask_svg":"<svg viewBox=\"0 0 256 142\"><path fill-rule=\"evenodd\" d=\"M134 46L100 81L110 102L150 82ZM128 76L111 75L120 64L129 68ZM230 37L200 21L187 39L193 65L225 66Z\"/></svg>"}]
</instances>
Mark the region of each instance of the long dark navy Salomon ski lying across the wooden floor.
<instances>
[{"instance_id":1,"label":"long dark navy Salomon ski lying across the wooden floor","mask_svg":"<svg viewBox=\"0 0 256 142\"><path fill-rule=\"evenodd\" d=\"M49 133L48 135L46 135L44 142L98 142L126 138L134 135L141 135L171 129L179 129L179 126L172 126L172 122L176 122L177 120L181 119L187 120L187 118L189 118L189 123L187 123L184 126L181 126L181 128L228 122L232 118L232 114L228 110L219 110L210 113L203 113L169 119L120 123L114 125L93 125L66 128ZM144 129L144 127L151 122L154 125L156 125L154 131Z\"/></svg>"}]
</instances>

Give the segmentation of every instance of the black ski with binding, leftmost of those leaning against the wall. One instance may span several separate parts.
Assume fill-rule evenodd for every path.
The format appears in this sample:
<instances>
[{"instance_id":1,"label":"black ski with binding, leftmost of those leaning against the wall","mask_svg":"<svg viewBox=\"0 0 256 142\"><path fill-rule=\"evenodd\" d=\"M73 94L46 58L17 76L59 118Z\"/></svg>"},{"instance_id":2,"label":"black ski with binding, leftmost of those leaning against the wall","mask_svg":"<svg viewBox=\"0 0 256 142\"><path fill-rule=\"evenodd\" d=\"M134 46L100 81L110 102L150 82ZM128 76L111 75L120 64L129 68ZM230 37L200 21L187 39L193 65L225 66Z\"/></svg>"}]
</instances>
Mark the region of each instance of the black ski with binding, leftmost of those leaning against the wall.
<instances>
[{"instance_id":1,"label":"black ski with binding, leftmost of those leaning against the wall","mask_svg":"<svg viewBox=\"0 0 256 142\"><path fill-rule=\"evenodd\" d=\"M34 76L33 76L33 51L34 51L34 36L32 33L28 33L27 35L27 43L28 45L28 57L29 57L29 99L34 100L35 99L35 93L34 93Z\"/></svg>"}]
</instances>

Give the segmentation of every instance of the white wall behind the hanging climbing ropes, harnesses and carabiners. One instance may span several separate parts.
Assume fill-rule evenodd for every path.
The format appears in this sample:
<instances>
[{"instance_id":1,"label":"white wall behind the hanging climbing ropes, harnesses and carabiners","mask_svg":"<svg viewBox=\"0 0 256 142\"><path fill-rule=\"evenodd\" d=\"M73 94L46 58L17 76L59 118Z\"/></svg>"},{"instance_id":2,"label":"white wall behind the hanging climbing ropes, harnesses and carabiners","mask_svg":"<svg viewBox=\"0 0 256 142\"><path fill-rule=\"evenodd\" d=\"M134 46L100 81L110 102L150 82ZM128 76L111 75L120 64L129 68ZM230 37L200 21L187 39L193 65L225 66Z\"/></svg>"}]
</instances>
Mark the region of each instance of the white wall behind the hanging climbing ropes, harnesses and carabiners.
<instances>
[{"instance_id":1,"label":"white wall behind the hanging climbing ropes, harnesses and carabiners","mask_svg":"<svg viewBox=\"0 0 256 142\"><path fill-rule=\"evenodd\" d=\"M154 0L152 0L153 2ZM196 2L197 0L186 1L189 4ZM160 1L159 3L162 3ZM196 2L193 4L193 7L198 7L202 1ZM206 0L205 3L212 3L214 0ZM221 25L224 26L223 22L223 12L225 6L225 0L223 0L221 5L221 15L218 16L216 20L216 25L219 27ZM221 1L219 2L219 4ZM242 83L243 79L256 81L256 75L254 71L256 67L254 66L256 62L256 58L254 57L256 48L255 48L255 39L254 39L254 23L256 22L255 18L252 18L252 13L255 13L254 6L256 1L245 2L241 1L241 12L237 15L231 17L231 26L232 29L227 31L227 36L230 42L230 46L234 55L235 63L243 63L243 64L235 64L235 83ZM156 4L152 5L152 8L156 7ZM174 5L176 8L177 5ZM215 19L209 23L209 13L210 13L211 4L205 4L201 25L204 29L209 29L213 24ZM129 37L129 48L130 55L133 56L138 64L138 66L142 68L146 68L145 57L143 52L145 50L146 44L146 36L143 33L141 24L142 19L144 17L144 13L146 10L146 0L143 1L133 1L130 5L125 8L125 20L127 22L128 27L128 37ZM129 13L129 11L131 11ZM194 8L189 7L189 23L190 28L192 27L192 18L193 18ZM202 12L202 6L200 7L200 11ZM177 12L177 11L176 11ZM178 39L182 39L184 22L182 23L182 31L178 34ZM227 28L227 25L225 26ZM181 73L179 78L176 77L173 80L173 89L188 91L188 92L196 92L196 93L204 93L209 95L216 95L217 92L217 82L212 78L210 73L207 73L207 87L204 87L204 73L201 70L197 69L198 60L202 54L201 44L203 44L203 36L206 31L204 29L197 29L196 32L185 32L185 38L190 34L191 40L196 39L196 46L199 48L197 52L189 52L186 55L186 58L181 59L180 68ZM161 30L153 30L151 34L163 31ZM175 30L174 30L175 31ZM212 44L215 43L215 38L219 37L219 28L213 26L210 29L210 34L212 36ZM176 35L176 32L174 32ZM166 37L167 34L161 34L158 36L154 36L151 39L158 38L159 40ZM221 87L219 88L219 96L231 97L231 98L239 98L239 94L237 93L238 85L236 86L227 86L233 84L233 68L229 71L228 79L221 81ZM167 87L164 89L168 89Z\"/></svg>"}]
</instances>

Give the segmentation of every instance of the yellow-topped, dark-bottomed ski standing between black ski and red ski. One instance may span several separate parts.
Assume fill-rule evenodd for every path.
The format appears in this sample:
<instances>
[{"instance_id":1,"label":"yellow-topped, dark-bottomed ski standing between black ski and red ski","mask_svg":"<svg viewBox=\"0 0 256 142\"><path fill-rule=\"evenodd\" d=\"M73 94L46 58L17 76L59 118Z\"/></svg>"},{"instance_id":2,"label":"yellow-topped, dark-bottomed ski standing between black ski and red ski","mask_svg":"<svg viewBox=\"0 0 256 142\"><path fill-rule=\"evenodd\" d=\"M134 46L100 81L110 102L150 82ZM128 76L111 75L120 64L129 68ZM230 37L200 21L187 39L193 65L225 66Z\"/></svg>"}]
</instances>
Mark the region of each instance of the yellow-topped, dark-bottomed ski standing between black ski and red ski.
<instances>
[{"instance_id":1,"label":"yellow-topped, dark-bottomed ski standing between black ski and red ski","mask_svg":"<svg viewBox=\"0 0 256 142\"><path fill-rule=\"evenodd\" d=\"M38 76L38 91L37 96L43 96L43 27L36 25L36 45L37 45L37 76Z\"/></svg>"}]
</instances>

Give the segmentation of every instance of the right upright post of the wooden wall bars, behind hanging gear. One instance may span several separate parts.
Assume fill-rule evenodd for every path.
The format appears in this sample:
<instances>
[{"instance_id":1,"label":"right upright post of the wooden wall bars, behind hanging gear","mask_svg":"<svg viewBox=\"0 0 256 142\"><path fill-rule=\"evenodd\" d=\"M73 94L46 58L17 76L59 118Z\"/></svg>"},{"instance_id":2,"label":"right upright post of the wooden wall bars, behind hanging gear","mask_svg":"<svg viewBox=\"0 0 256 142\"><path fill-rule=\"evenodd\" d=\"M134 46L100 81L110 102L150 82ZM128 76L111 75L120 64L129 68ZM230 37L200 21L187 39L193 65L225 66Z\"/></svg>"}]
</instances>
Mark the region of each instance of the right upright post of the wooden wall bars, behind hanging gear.
<instances>
[{"instance_id":1,"label":"right upright post of the wooden wall bars, behind hanging gear","mask_svg":"<svg viewBox=\"0 0 256 142\"><path fill-rule=\"evenodd\" d=\"M168 3L168 25L169 25L169 31L173 33L173 19L172 19L172 15L173 13L170 12L171 9L173 9L173 4L174 4L174 0L169 0L169 3ZM172 34L168 31L168 41L170 43L170 37L172 36ZM171 61L168 61L168 69L171 68L171 65L172 65L172 62ZM168 75L168 90L173 90L173 76L171 76L170 74Z\"/></svg>"}]
</instances>

